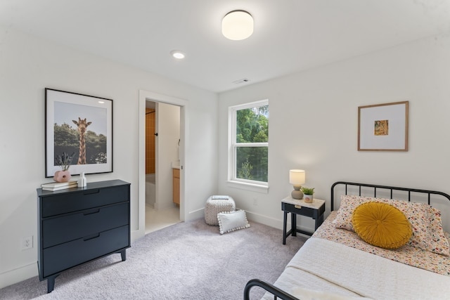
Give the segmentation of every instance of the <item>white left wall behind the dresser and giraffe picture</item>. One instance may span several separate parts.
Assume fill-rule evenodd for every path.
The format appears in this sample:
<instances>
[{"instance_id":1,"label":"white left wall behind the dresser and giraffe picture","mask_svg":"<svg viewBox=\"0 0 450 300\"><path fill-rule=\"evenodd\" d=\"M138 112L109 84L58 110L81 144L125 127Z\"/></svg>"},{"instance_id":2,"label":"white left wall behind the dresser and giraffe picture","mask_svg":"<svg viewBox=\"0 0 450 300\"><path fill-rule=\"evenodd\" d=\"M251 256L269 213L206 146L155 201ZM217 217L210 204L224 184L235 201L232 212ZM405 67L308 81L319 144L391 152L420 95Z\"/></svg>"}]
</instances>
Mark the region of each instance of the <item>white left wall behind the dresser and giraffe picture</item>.
<instances>
[{"instance_id":1,"label":"white left wall behind the dresser and giraffe picture","mask_svg":"<svg viewBox=\"0 0 450 300\"><path fill-rule=\"evenodd\" d=\"M114 171L86 177L131 183L131 231L139 224L140 89L188 102L186 162L195 166L184 170L186 186L195 186L186 188L188 213L217 190L215 93L0 27L0 288L37 275L36 188L51 181L44 178L45 87L113 99ZM30 235L34 247L21 251Z\"/></svg>"}]
</instances>

